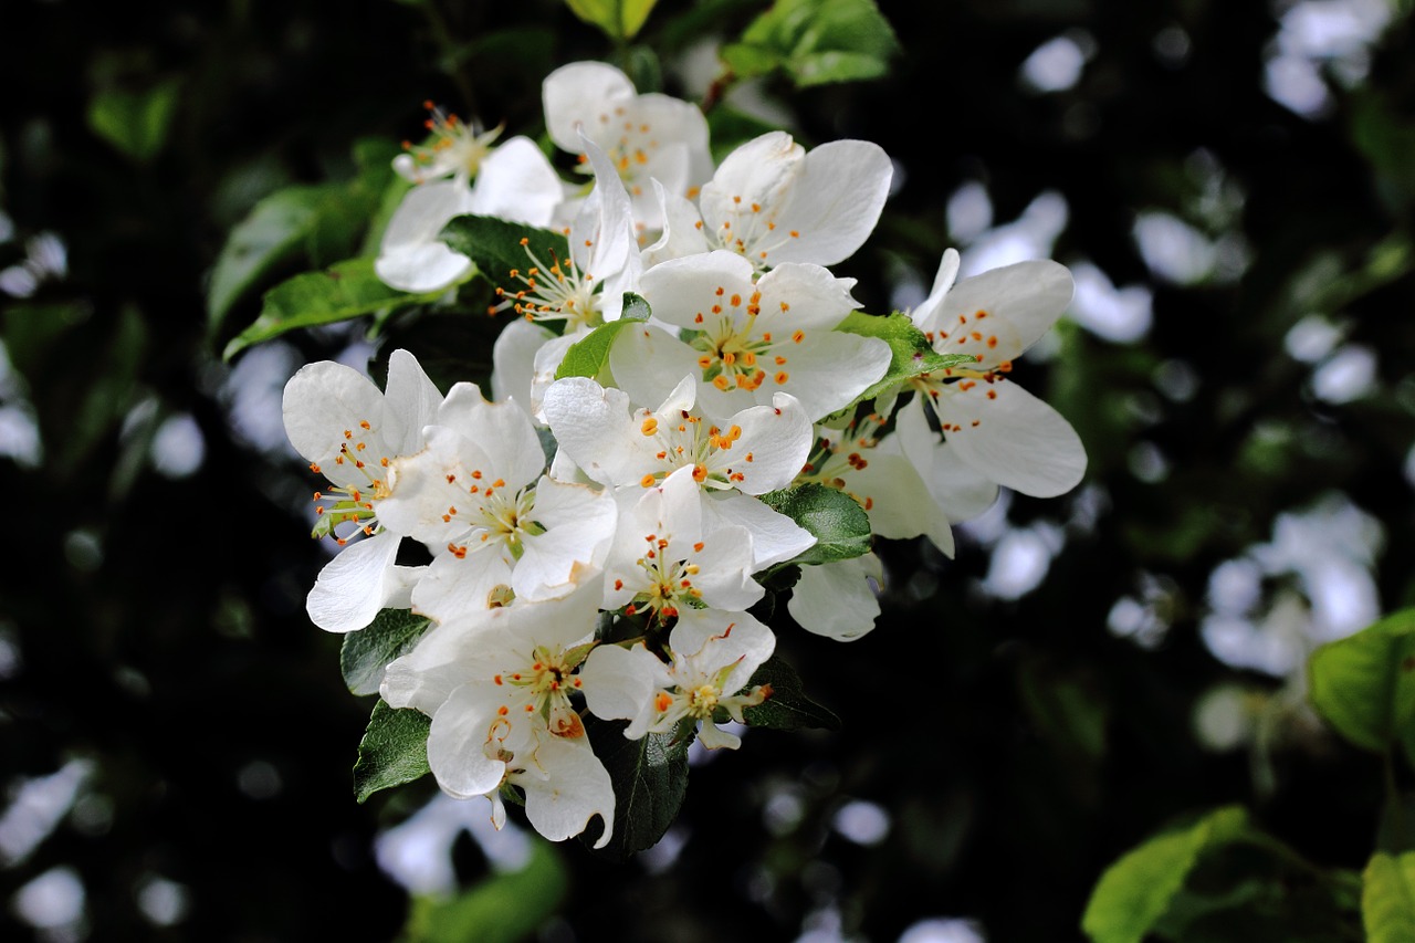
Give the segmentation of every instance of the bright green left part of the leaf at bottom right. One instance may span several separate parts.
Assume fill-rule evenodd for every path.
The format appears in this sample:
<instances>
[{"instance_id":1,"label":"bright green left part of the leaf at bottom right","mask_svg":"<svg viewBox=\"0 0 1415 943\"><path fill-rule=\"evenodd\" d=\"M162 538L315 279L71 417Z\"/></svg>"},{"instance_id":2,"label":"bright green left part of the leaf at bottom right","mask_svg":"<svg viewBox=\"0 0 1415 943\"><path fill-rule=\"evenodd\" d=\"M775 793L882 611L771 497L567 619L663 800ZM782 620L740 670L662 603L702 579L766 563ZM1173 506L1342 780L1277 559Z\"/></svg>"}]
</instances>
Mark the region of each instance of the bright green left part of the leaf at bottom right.
<instances>
[{"instance_id":1,"label":"bright green left part of the leaf at bottom right","mask_svg":"<svg viewBox=\"0 0 1415 943\"><path fill-rule=\"evenodd\" d=\"M1251 835L1248 813L1227 806L1150 838L1105 869L1081 929L1095 943L1139 943L1170 909L1201 855Z\"/></svg>"}]
</instances>

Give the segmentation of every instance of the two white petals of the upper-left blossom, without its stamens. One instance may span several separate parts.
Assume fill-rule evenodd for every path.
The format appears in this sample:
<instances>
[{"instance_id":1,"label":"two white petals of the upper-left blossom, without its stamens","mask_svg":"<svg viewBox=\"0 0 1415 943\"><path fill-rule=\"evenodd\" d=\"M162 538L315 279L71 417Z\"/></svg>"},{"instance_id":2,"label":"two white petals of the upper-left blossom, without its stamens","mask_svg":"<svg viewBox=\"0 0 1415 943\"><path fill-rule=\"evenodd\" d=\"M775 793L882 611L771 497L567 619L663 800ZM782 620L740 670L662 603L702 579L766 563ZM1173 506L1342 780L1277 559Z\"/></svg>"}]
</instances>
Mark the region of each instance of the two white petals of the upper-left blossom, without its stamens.
<instances>
[{"instance_id":1,"label":"two white petals of the upper-left blossom, without its stamens","mask_svg":"<svg viewBox=\"0 0 1415 943\"><path fill-rule=\"evenodd\" d=\"M437 238L447 222L471 212L543 227L563 193L535 142L512 137L480 160L474 184L458 173L409 190L388 221L374 272L400 292L444 289L471 270L471 259Z\"/></svg>"}]
</instances>

